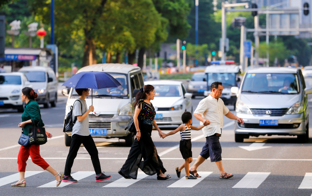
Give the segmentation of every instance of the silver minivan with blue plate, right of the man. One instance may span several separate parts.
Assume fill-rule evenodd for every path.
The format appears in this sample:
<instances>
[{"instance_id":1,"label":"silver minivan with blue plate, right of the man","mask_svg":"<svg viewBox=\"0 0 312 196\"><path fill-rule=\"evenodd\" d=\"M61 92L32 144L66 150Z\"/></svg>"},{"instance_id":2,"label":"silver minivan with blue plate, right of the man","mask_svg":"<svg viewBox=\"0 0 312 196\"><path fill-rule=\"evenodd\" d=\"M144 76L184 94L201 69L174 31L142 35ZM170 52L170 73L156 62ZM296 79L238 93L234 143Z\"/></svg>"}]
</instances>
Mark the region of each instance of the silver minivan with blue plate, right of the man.
<instances>
[{"instance_id":1,"label":"silver minivan with blue plate, right of the man","mask_svg":"<svg viewBox=\"0 0 312 196\"><path fill-rule=\"evenodd\" d=\"M236 115L245 123L235 123L235 141L259 135L296 135L309 138L308 94L298 68L264 67L248 70L238 94Z\"/></svg>"}]
</instances>

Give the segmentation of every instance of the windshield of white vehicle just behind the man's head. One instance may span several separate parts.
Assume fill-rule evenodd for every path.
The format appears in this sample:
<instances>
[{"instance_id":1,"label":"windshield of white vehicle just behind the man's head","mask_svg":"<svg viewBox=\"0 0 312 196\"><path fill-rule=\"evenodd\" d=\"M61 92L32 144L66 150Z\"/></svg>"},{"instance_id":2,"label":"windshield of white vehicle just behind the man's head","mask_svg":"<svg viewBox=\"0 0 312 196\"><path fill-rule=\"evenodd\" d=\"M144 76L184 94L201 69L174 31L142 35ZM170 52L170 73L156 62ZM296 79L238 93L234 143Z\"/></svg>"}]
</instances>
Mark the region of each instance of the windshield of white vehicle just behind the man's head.
<instances>
[{"instance_id":1,"label":"windshield of white vehicle just behind the man's head","mask_svg":"<svg viewBox=\"0 0 312 196\"><path fill-rule=\"evenodd\" d=\"M235 73L208 73L208 86L214 82L222 82L223 86L237 86Z\"/></svg>"}]
</instances>

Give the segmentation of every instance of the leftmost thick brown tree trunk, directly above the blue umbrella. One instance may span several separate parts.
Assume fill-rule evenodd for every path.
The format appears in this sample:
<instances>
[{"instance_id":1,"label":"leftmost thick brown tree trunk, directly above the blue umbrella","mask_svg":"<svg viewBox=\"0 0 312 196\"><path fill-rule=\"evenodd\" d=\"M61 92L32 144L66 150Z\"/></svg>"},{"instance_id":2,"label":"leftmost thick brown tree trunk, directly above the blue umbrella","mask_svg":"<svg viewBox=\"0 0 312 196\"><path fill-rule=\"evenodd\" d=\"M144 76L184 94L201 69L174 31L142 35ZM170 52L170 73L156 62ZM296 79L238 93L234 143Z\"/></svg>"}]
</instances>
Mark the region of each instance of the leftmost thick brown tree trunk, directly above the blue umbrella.
<instances>
[{"instance_id":1,"label":"leftmost thick brown tree trunk, directly above the blue umbrella","mask_svg":"<svg viewBox=\"0 0 312 196\"><path fill-rule=\"evenodd\" d=\"M95 44L92 38L86 38L82 66L96 64Z\"/></svg>"}]
</instances>

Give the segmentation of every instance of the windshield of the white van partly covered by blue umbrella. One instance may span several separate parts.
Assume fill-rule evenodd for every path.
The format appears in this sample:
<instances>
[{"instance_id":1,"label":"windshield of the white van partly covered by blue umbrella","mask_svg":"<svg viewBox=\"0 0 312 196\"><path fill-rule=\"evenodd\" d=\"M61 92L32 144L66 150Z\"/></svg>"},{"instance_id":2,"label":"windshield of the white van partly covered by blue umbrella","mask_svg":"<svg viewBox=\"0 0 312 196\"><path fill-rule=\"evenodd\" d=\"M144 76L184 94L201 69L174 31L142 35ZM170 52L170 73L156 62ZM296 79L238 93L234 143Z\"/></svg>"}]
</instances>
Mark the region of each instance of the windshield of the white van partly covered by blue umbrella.
<instances>
[{"instance_id":1,"label":"windshield of the white van partly covered by blue umbrella","mask_svg":"<svg viewBox=\"0 0 312 196\"><path fill-rule=\"evenodd\" d=\"M124 99L129 96L128 93L128 82L127 75L119 74L119 73L108 73L112 77L114 77L121 86L117 88L102 88L102 89L93 89L93 97L96 98L114 98L114 99ZM72 98L76 98L78 96L77 92L73 89ZM91 98L91 90L88 98Z\"/></svg>"}]
</instances>

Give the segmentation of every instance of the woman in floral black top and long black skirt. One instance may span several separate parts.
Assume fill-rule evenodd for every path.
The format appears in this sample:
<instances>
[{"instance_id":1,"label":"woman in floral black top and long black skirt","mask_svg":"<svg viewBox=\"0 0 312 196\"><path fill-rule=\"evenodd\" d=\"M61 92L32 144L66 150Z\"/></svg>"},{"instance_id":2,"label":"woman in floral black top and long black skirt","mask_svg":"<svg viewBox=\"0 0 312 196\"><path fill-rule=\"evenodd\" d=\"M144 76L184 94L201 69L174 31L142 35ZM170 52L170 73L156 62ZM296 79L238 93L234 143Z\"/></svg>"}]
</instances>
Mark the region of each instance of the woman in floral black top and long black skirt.
<instances>
[{"instance_id":1,"label":"woman in floral black top and long black skirt","mask_svg":"<svg viewBox=\"0 0 312 196\"><path fill-rule=\"evenodd\" d=\"M166 169L151 138L153 126L158 130L160 137L164 137L164 133L154 121L156 112L150 103L154 96L155 90L152 85L142 87L136 96L136 110L133 116L137 130L136 139L131 146L127 160L118 171L118 174L126 179L137 179L139 168L149 176L157 174L158 180L171 178L165 175Z\"/></svg>"}]
</instances>

